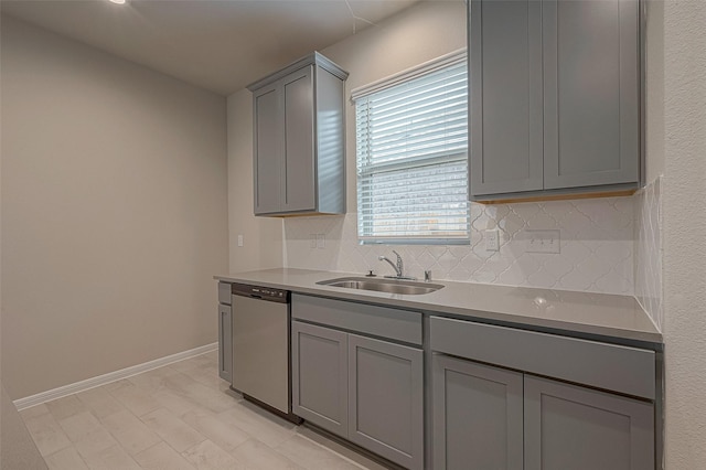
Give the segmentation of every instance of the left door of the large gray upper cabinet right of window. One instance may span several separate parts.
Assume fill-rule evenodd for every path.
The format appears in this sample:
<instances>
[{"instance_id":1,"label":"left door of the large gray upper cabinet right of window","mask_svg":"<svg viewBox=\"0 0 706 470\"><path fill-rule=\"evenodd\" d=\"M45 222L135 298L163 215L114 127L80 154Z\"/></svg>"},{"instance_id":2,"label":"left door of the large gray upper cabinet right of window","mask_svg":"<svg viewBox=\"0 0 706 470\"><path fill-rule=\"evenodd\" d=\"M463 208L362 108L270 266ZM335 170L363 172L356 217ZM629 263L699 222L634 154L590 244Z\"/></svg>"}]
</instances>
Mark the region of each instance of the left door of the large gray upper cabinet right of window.
<instances>
[{"instance_id":1,"label":"left door of the large gray upper cabinet right of window","mask_svg":"<svg viewBox=\"0 0 706 470\"><path fill-rule=\"evenodd\" d=\"M542 2L470 2L471 195L543 189Z\"/></svg>"}]
</instances>

